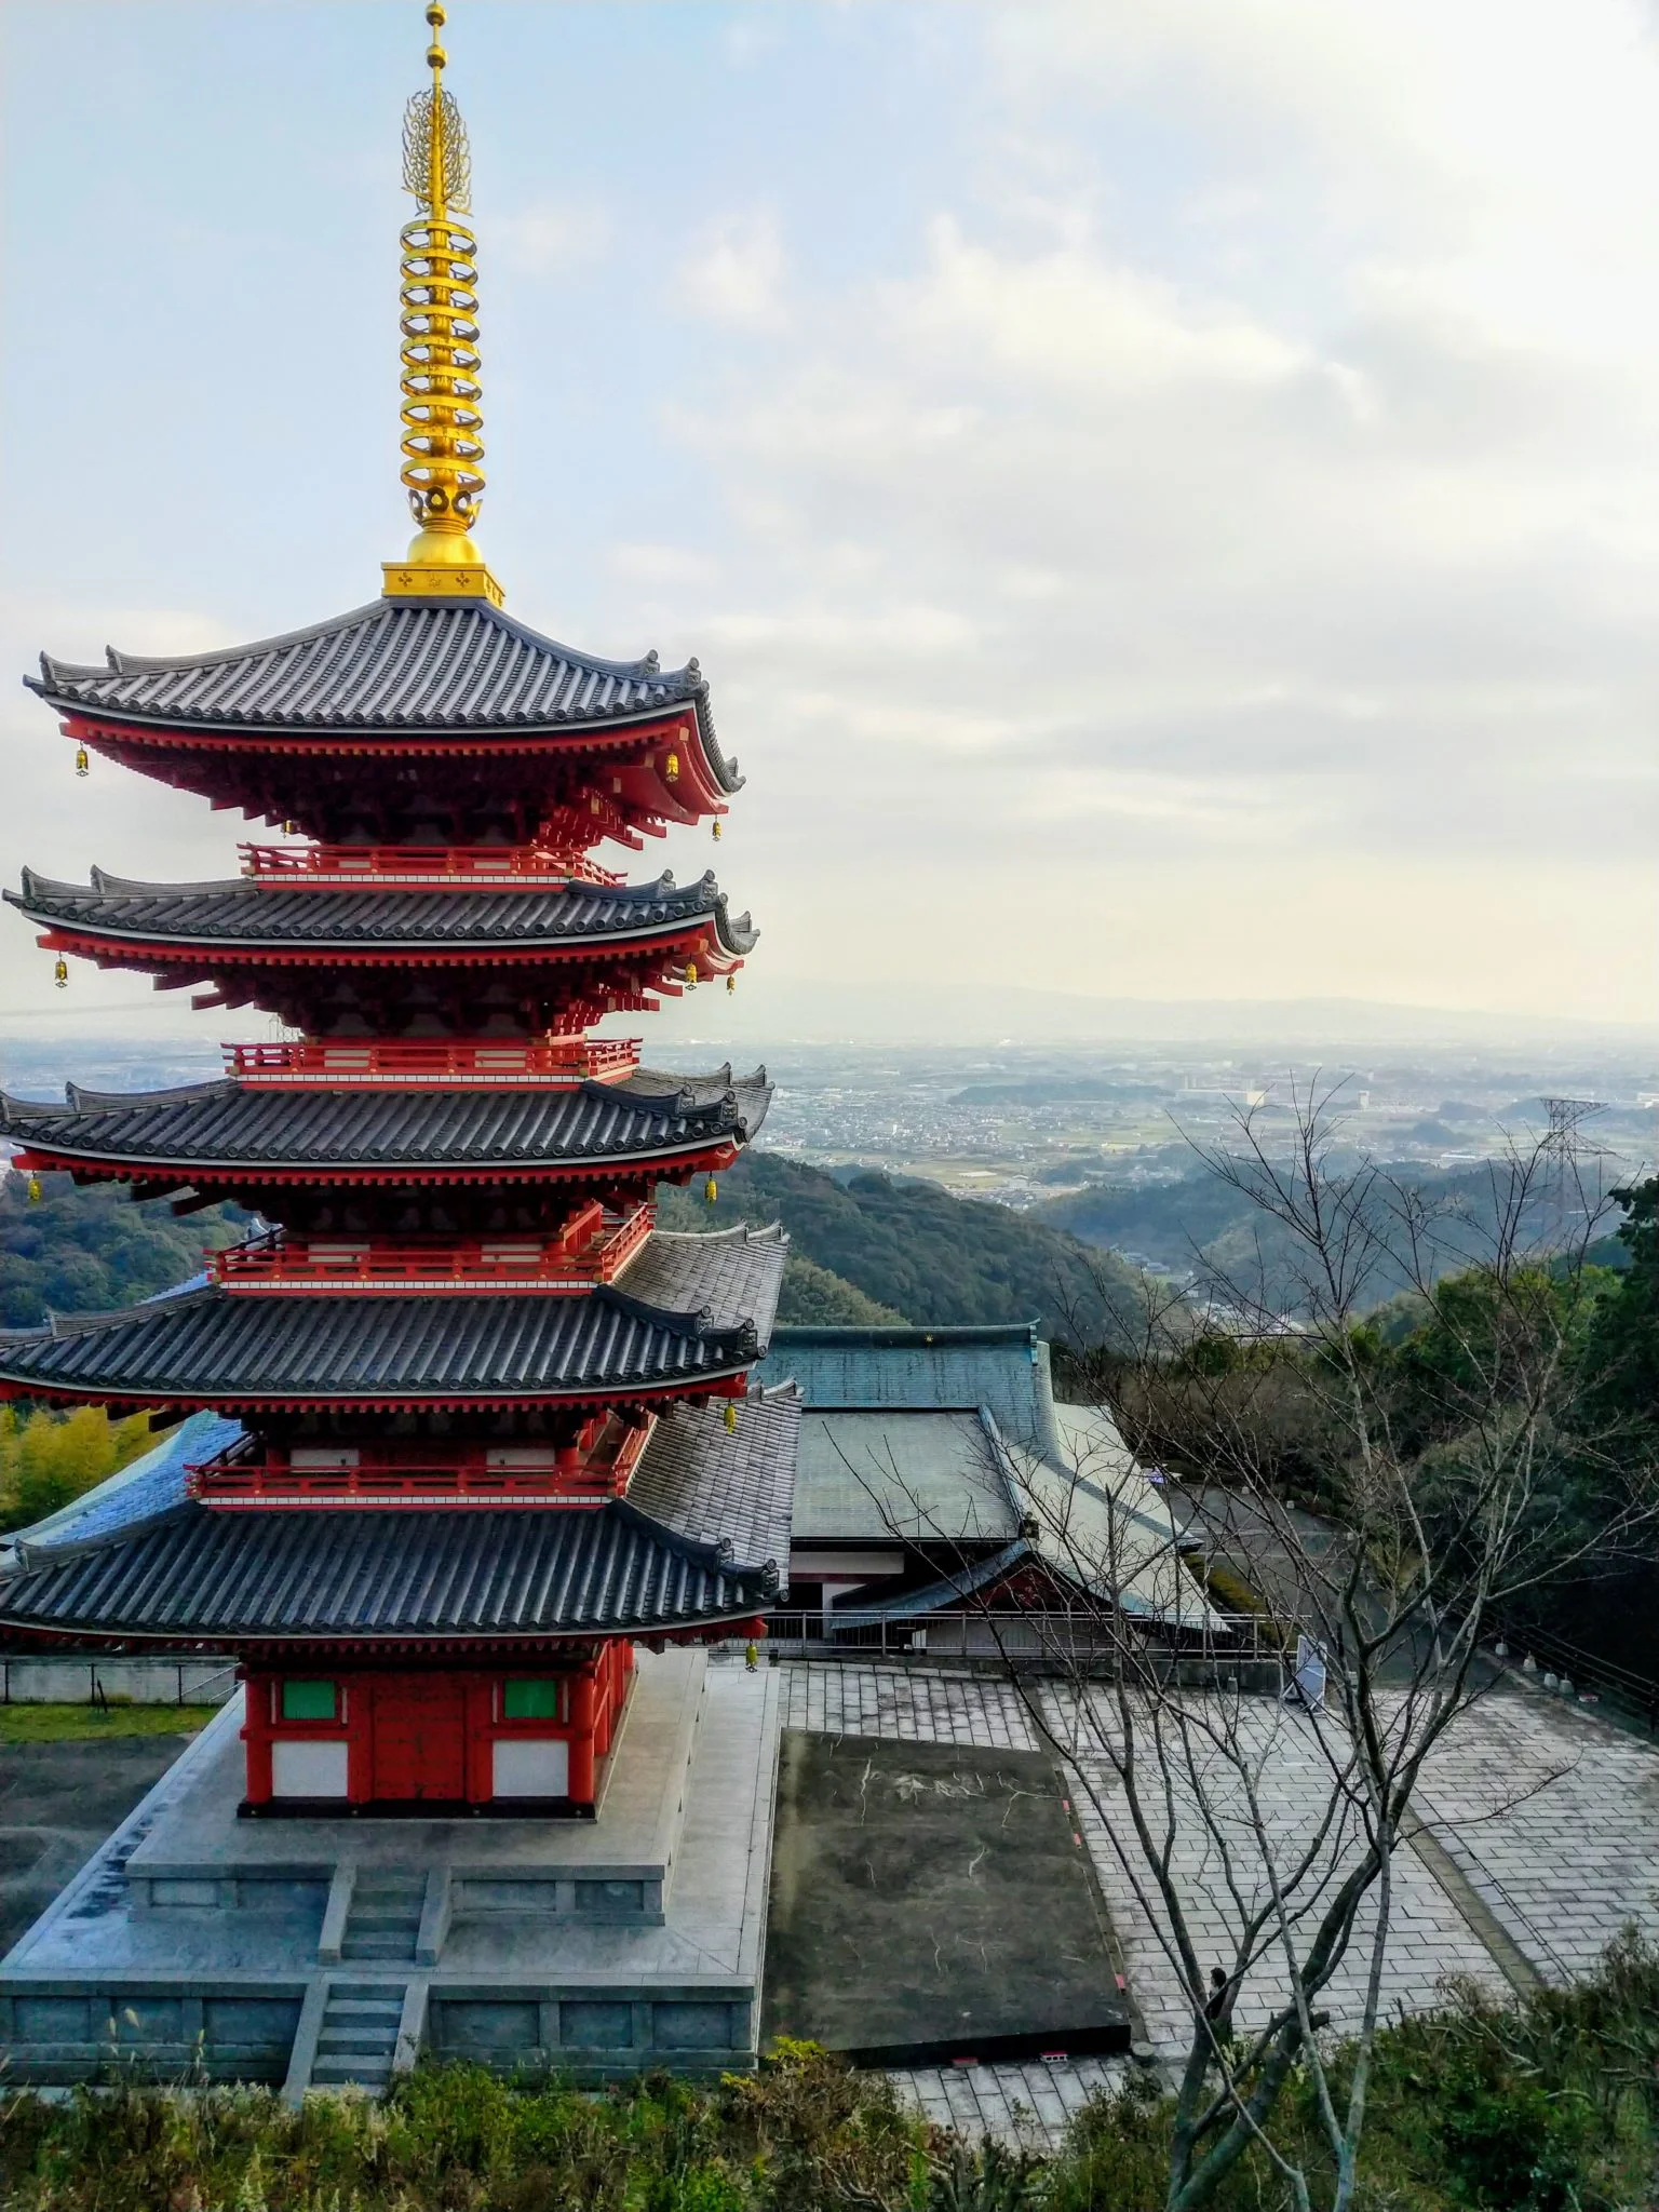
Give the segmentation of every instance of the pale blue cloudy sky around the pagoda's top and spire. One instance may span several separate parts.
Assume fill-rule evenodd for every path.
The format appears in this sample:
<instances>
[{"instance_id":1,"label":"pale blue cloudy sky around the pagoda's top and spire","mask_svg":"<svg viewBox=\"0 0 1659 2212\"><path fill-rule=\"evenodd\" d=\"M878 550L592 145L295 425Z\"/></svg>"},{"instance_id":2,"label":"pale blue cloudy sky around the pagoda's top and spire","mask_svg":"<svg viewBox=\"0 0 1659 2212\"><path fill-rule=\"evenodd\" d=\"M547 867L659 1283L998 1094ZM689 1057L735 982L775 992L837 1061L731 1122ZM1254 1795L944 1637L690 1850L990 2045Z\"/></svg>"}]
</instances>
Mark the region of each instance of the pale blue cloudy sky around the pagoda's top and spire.
<instances>
[{"instance_id":1,"label":"pale blue cloudy sky around the pagoda's top and spire","mask_svg":"<svg viewBox=\"0 0 1659 2212\"><path fill-rule=\"evenodd\" d=\"M378 591L420 18L0 9L0 666ZM1652 7L456 0L445 35L480 544L531 626L699 655L748 787L719 852L646 858L719 863L779 1020L1659 1022ZM0 743L7 883L234 872L237 821L77 781L13 681ZM15 916L0 1018L188 1022L55 993Z\"/></svg>"}]
</instances>

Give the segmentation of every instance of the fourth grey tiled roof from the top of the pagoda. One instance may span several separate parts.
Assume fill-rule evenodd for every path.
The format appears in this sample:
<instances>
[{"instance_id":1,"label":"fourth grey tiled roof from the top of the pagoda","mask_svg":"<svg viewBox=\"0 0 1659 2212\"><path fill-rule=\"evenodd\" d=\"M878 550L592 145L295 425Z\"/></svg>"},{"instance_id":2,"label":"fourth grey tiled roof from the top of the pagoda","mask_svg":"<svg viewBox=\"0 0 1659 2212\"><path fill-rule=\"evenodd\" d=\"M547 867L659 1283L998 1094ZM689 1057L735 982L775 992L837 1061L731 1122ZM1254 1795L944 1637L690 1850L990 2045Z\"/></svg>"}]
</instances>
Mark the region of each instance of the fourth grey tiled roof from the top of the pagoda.
<instances>
[{"instance_id":1,"label":"fourth grey tiled roof from the top of the pagoda","mask_svg":"<svg viewBox=\"0 0 1659 2212\"><path fill-rule=\"evenodd\" d=\"M655 1241L655 1239L653 1239ZM119 1314L0 1329L0 1383L62 1398L192 1407L482 1407L695 1391L765 1349L783 1279L776 1230L664 1237L580 1298L184 1290ZM639 1267L641 1296L633 1290ZM650 1303L659 1298L661 1303ZM701 1303L695 1303L701 1301Z\"/></svg>"}]
</instances>

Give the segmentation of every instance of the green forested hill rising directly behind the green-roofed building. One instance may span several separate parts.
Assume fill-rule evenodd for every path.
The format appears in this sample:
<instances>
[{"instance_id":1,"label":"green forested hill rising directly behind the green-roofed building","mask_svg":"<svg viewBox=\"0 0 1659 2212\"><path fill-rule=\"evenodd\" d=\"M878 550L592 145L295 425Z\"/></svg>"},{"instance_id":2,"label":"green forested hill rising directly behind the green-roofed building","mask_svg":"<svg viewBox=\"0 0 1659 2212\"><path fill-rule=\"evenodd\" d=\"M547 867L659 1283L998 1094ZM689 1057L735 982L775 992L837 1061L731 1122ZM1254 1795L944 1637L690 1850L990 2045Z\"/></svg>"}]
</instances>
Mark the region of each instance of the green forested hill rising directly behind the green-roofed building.
<instances>
[{"instance_id":1,"label":"green forested hill rising directly behind the green-roofed building","mask_svg":"<svg viewBox=\"0 0 1659 2212\"><path fill-rule=\"evenodd\" d=\"M799 1312L805 1283L796 1259L916 1325L1037 1321L1046 1336L1099 1343L1119 1334L1117 1316L1139 1312L1139 1281L1110 1254L1029 1214L953 1199L938 1183L887 1175L841 1183L779 1152L743 1152L719 1179L712 1208L701 1183L688 1192L664 1186L661 1219L666 1228L781 1221L792 1241L785 1318L843 1318Z\"/></svg>"}]
</instances>

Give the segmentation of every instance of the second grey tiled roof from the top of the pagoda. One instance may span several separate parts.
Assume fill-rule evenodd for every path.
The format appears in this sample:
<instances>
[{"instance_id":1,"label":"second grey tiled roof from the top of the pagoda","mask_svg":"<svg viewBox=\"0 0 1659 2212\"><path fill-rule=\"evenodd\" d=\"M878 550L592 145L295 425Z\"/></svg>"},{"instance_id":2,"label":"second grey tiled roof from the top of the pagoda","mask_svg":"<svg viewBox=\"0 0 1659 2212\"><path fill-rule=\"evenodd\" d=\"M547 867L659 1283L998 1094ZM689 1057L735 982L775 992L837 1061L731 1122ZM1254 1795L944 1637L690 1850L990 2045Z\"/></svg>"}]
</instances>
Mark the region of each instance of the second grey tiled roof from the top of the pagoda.
<instances>
[{"instance_id":1,"label":"second grey tiled roof from the top of the pagoda","mask_svg":"<svg viewBox=\"0 0 1659 2212\"><path fill-rule=\"evenodd\" d=\"M55 883L22 872L22 891L7 905L31 920L75 936L157 947L246 947L252 951L314 949L396 953L487 947L571 951L630 947L677 938L710 922L728 953L752 951L759 931L748 914L732 918L706 874L699 883L657 883L599 889L276 889L263 883L131 883L93 869L91 885Z\"/></svg>"}]
</instances>

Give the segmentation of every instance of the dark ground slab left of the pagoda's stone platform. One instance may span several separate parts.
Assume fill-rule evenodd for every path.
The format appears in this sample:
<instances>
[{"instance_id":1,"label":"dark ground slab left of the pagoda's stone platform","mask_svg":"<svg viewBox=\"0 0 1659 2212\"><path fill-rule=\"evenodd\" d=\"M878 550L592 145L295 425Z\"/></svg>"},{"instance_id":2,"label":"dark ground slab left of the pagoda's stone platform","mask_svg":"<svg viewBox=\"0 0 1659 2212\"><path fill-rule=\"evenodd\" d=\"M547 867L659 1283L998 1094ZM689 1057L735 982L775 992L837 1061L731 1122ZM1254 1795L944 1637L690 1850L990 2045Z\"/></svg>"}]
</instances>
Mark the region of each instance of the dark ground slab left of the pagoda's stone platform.
<instances>
[{"instance_id":1,"label":"dark ground slab left of the pagoda's stone platform","mask_svg":"<svg viewBox=\"0 0 1659 2212\"><path fill-rule=\"evenodd\" d=\"M0 1747L0 1958L190 1741L106 1736Z\"/></svg>"}]
</instances>

